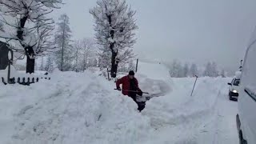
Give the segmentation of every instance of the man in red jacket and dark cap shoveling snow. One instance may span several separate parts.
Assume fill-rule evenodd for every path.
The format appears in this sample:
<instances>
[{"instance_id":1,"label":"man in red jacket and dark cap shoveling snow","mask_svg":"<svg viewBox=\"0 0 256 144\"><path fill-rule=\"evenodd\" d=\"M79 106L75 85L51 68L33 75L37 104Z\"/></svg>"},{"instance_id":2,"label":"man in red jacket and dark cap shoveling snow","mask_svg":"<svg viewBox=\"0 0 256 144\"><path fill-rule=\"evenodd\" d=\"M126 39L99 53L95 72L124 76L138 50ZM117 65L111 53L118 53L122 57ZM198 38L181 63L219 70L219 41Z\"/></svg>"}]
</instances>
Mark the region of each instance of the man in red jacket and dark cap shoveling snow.
<instances>
[{"instance_id":1,"label":"man in red jacket and dark cap shoveling snow","mask_svg":"<svg viewBox=\"0 0 256 144\"><path fill-rule=\"evenodd\" d=\"M122 89L120 85L122 84ZM130 98L133 98L134 102L138 104L138 110L142 111L145 108L146 102L138 102L137 95L142 97L142 90L138 87L138 80L134 78L134 71L131 70L128 75L118 79L116 82L117 89L122 90L122 94L128 95ZM147 94L147 93L145 93Z\"/></svg>"}]
</instances>

